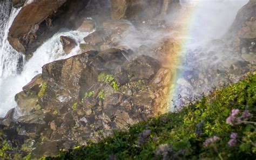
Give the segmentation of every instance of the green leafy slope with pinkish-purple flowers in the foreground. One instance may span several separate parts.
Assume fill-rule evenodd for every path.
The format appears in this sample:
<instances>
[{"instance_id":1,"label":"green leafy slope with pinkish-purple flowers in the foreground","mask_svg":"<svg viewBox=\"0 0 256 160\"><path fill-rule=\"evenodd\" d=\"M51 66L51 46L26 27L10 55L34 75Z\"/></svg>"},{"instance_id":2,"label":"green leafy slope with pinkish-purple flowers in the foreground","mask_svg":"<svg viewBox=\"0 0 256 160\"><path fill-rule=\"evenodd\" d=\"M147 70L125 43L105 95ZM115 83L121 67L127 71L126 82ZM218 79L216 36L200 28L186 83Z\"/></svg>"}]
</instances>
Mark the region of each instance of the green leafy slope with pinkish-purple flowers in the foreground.
<instances>
[{"instance_id":1,"label":"green leafy slope with pinkish-purple flowers in the foreground","mask_svg":"<svg viewBox=\"0 0 256 160\"><path fill-rule=\"evenodd\" d=\"M180 112L43 159L255 159L256 74Z\"/></svg>"}]
</instances>

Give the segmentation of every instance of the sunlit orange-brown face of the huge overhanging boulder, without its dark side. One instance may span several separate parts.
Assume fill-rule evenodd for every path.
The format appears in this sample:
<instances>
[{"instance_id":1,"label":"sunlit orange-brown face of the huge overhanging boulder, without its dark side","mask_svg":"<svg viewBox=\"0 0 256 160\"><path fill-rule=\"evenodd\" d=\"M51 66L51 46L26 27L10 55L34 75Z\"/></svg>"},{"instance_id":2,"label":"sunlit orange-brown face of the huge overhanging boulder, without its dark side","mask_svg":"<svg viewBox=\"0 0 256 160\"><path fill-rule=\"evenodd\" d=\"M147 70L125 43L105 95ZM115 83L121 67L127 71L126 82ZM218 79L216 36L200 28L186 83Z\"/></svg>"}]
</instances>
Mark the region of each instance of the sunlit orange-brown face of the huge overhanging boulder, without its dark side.
<instances>
[{"instance_id":1,"label":"sunlit orange-brown face of the huge overhanging boulder, without its dark side","mask_svg":"<svg viewBox=\"0 0 256 160\"><path fill-rule=\"evenodd\" d=\"M26 47L37 37L39 24L56 12L65 2L66 0L37 0L23 6L9 30L8 40L12 47L25 53Z\"/></svg>"}]
</instances>

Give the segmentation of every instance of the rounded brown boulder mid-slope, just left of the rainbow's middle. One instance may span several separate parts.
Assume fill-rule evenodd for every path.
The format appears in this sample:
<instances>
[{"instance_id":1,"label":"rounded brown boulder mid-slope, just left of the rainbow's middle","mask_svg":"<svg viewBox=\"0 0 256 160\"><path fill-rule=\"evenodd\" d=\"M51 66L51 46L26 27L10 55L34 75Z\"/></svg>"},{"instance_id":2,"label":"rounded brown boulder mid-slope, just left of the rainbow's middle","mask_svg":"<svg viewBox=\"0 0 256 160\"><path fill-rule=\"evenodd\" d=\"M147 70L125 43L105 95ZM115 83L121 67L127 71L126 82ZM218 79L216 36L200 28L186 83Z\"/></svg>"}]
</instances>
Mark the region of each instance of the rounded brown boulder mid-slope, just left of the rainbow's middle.
<instances>
[{"instance_id":1,"label":"rounded brown boulder mid-slope, just left of the rainbow's middle","mask_svg":"<svg viewBox=\"0 0 256 160\"><path fill-rule=\"evenodd\" d=\"M126 71L139 79L151 79L159 68L160 64L156 59L140 55L126 66Z\"/></svg>"}]
</instances>

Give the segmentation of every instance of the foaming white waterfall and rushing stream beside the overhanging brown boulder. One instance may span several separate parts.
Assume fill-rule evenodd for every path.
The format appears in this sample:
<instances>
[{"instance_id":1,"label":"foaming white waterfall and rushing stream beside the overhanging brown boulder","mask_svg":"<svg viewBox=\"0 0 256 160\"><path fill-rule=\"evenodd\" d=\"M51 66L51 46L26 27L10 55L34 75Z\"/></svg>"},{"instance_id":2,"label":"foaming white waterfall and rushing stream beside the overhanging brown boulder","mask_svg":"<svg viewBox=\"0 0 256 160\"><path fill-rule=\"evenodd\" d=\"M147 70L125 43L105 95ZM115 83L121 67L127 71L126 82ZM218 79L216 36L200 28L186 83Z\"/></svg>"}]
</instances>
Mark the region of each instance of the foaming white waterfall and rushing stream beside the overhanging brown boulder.
<instances>
[{"instance_id":1,"label":"foaming white waterfall and rushing stream beside the overhanging brown boulder","mask_svg":"<svg viewBox=\"0 0 256 160\"><path fill-rule=\"evenodd\" d=\"M10 2L6 1L5 3L9 4ZM6 5L5 3L0 3L1 16L3 15L1 19L3 31L0 32L0 117L3 117L9 109L17 107L15 94L21 92L22 87L28 84L33 76L42 72L43 65L54 60L71 57L78 53L79 45L73 48L68 55L63 54L64 51L60 43L60 36L71 37L79 44L83 41L83 38L89 34L87 32L60 30L50 39L46 40L45 43L33 53L33 57L25 62L23 71L19 72L22 54L15 51L7 40L9 27L19 10L11 9L11 4ZM10 8L7 9L6 6L10 6ZM8 12L9 10L11 10L11 13ZM9 13L10 17L8 16Z\"/></svg>"}]
</instances>

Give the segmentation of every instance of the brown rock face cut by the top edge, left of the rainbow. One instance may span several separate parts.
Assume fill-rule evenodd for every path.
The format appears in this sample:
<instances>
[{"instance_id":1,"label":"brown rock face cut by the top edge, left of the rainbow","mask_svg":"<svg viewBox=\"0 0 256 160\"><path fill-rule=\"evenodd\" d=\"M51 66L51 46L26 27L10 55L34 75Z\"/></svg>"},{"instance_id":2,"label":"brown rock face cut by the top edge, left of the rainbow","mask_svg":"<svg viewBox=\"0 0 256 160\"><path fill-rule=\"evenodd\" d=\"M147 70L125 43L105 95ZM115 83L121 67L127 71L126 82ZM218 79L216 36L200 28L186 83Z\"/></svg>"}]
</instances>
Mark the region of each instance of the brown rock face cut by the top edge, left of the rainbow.
<instances>
[{"instance_id":1,"label":"brown rock face cut by the top edge, left of the rainbow","mask_svg":"<svg viewBox=\"0 0 256 160\"><path fill-rule=\"evenodd\" d=\"M178 6L179 0L111 0L112 19L132 19L140 16L152 18L167 13L172 6Z\"/></svg>"}]
</instances>

